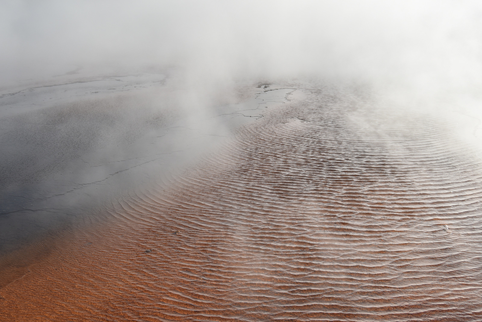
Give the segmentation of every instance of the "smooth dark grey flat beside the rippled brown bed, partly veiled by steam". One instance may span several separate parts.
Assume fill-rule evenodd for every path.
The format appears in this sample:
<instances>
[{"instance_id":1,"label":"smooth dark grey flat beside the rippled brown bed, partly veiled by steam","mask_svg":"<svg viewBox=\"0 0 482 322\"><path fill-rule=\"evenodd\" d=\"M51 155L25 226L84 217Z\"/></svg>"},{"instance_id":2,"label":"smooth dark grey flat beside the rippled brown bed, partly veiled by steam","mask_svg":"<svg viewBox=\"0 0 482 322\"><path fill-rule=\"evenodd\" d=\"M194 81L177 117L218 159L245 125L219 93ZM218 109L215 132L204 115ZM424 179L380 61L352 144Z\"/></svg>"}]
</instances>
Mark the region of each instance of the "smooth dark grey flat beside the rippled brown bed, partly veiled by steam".
<instances>
[{"instance_id":1,"label":"smooth dark grey flat beside the rippled brown bed, partly veiled by steam","mask_svg":"<svg viewBox=\"0 0 482 322\"><path fill-rule=\"evenodd\" d=\"M0 91L0 287L59 235L103 222L113 200L169 185L292 91L241 85L234 97L220 89L193 104L192 91L169 82L162 74L55 78Z\"/></svg>"}]
</instances>

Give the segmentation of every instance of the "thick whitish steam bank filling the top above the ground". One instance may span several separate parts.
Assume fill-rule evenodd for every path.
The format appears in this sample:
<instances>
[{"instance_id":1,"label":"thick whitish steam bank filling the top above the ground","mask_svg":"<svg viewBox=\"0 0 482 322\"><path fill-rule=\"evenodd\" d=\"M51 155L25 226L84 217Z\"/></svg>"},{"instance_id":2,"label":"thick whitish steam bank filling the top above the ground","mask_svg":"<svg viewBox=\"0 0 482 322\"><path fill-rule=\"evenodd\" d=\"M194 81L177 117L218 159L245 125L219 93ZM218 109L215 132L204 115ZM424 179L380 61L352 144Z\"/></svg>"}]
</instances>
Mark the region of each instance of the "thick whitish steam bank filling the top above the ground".
<instances>
[{"instance_id":1,"label":"thick whitish steam bank filling the top above the ground","mask_svg":"<svg viewBox=\"0 0 482 322\"><path fill-rule=\"evenodd\" d=\"M187 80L318 75L411 90L481 85L476 1L3 1L2 83L81 67Z\"/></svg>"}]
</instances>

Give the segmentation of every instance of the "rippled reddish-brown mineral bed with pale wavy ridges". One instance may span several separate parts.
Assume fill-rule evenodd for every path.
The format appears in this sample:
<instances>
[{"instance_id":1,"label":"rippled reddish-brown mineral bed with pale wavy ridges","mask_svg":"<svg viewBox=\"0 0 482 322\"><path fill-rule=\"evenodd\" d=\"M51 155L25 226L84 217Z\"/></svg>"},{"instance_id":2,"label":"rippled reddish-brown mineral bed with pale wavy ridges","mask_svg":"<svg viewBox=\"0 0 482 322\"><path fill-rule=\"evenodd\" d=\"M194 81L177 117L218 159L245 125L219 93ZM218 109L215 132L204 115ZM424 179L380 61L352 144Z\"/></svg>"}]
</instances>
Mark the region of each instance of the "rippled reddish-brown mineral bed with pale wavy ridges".
<instances>
[{"instance_id":1,"label":"rippled reddish-brown mineral bed with pale wavy ridges","mask_svg":"<svg viewBox=\"0 0 482 322\"><path fill-rule=\"evenodd\" d=\"M1 321L480 321L478 161L438 119L332 93L119 201L0 290Z\"/></svg>"}]
</instances>

